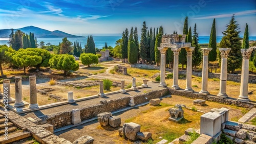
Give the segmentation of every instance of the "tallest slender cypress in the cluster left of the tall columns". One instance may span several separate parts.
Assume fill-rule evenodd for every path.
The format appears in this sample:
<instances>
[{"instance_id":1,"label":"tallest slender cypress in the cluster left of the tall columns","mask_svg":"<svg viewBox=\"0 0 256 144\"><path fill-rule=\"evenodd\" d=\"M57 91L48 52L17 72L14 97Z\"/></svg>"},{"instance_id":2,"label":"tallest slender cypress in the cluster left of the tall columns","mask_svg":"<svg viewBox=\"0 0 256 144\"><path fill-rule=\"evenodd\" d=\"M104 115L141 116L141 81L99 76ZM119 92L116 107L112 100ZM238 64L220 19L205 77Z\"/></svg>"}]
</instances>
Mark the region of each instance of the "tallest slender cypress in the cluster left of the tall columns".
<instances>
[{"instance_id":1,"label":"tallest slender cypress in the cluster left of the tall columns","mask_svg":"<svg viewBox=\"0 0 256 144\"><path fill-rule=\"evenodd\" d=\"M142 60L142 64L144 64L144 61L147 58L147 48L148 48L148 39L147 39L147 27L146 22L143 22L143 26L141 29L141 38L140 38L140 57Z\"/></svg>"}]
</instances>

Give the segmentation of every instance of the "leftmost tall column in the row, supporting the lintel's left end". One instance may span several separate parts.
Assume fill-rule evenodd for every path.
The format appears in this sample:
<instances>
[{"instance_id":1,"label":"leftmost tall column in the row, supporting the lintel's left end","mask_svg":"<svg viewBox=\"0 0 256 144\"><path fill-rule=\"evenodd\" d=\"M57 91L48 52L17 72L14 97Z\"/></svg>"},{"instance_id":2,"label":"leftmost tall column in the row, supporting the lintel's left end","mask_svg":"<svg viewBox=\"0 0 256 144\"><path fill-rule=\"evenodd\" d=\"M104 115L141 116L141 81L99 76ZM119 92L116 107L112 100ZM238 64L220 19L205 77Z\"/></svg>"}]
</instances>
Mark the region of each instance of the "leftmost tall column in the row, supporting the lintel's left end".
<instances>
[{"instance_id":1,"label":"leftmost tall column in the row, supporting the lintel's left end","mask_svg":"<svg viewBox=\"0 0 256 144\"><path fill-rule=\"evenodd\" d=\"M158 47L158 50L161 53L161 66L160 66L160 84L158 85L159 87L166 87L166 83L165 83L165 56L166 56L166 50L168 48L167 47Z\"/></svg>"}]
</instances>

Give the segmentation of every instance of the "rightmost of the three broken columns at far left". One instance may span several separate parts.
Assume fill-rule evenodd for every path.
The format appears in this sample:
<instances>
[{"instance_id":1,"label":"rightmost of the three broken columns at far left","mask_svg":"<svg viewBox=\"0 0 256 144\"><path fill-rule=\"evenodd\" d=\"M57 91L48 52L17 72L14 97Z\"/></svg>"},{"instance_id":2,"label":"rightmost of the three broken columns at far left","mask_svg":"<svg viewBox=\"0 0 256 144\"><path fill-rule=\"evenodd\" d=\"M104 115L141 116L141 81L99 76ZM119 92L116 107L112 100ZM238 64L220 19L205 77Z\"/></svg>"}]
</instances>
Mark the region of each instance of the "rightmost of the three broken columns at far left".
<instances>
[{"instance_id":1,"label":"rightmost of the three broken columns at far left","mask_svg":"<svg viewBox=\"0 0 256 144\"><path fill-rule=\"evenodd\" d=\"M38 108L36 93L36 76L29 76L30 109Z\"/></svg>"}]
</instances>

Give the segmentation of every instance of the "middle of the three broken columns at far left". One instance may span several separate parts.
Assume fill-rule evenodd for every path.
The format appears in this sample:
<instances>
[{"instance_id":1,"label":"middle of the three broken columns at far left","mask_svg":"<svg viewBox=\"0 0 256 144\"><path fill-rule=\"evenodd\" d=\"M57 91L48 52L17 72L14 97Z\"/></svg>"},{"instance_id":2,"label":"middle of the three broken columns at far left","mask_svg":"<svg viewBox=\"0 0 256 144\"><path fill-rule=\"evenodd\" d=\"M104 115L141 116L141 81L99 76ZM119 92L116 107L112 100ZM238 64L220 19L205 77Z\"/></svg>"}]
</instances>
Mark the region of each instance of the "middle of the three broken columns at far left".
<instances>
[{"instance_id":1,"label":"middle of the three broken columns at far left","mask_svg":"<svg viewBox=\"0 0 256 144\"><path fill-rule=\"evenodd\" d=\"M22 77L15 77L15 104L14 107L23 107L22 101Z\"/></svg>"}]
</instances>

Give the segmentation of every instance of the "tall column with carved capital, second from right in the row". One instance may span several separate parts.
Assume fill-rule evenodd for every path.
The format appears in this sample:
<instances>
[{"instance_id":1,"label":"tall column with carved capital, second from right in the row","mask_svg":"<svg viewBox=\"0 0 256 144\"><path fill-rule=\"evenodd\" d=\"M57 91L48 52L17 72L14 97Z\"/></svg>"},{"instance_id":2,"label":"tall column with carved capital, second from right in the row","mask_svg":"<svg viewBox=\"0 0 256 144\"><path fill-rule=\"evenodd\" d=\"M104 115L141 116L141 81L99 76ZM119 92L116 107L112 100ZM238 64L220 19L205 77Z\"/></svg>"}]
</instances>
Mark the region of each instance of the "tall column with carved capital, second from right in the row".
<instances>
[{"instance_id":1,"label":"tall column with carved capital, second from right in the row","mask_svg":"<svg viewBox=\"0 0 256 144\"><path fill-rule=\"evenodd\" d=\"M221 55L221 77L220 77L220 92L217 95L221 98L227 98L227 56L230 48L219 48Z\"/></svg>"}]
</instances>

